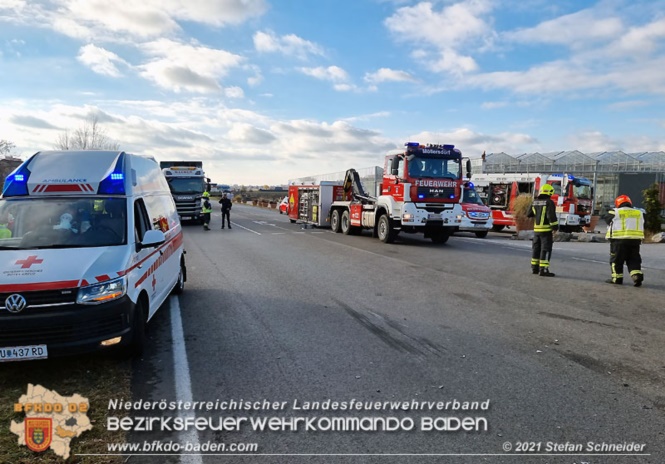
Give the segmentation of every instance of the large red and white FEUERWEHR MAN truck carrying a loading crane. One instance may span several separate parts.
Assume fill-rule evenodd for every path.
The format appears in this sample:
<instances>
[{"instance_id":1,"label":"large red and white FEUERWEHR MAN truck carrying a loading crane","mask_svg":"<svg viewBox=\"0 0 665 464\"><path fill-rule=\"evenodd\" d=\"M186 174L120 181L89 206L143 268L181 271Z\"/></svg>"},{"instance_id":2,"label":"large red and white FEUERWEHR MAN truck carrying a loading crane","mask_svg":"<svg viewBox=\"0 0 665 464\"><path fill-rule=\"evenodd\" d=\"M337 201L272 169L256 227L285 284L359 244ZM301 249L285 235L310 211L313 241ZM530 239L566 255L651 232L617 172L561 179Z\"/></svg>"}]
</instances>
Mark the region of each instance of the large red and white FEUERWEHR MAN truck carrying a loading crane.
<instances>
[{"instance_id":1,"label":"large red and white FEUERWEHR MAN truck carrying a loading crane","mask_svg":"<svg viewBox=\"0 0 665 464\"><path fill-rule=\"evenodd\" d=\"M468 159L466 171L469 176ZM306 211L333 232L354 235L369 229L384 243L402 232L445 243L462 221L462 174L462 152L454 145L408 142L386 155L378 195L367 192L358 172L349 169L341 184L290 186L289 217L302 220ZM318 203L303 208L313 198Z\"/></svg>"}]
</instances>

